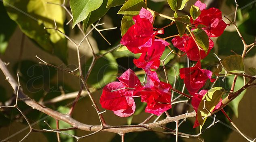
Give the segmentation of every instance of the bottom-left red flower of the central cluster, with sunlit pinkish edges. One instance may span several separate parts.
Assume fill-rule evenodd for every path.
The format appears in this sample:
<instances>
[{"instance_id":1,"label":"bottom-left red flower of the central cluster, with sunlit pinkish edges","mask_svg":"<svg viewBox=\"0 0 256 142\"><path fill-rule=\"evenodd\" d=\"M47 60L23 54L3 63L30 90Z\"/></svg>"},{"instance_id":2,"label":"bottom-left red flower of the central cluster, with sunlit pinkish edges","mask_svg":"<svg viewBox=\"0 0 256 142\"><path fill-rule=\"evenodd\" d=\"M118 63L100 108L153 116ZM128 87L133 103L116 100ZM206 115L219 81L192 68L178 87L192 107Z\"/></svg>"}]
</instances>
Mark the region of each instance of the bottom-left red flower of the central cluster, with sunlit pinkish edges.
<instances>
[{"instance_id":1,"label":"bottom-left red flower of the central cluster, with sunlit pinkish edges","mask_svg":"<svg viewBox=\"0 0 256 142\"><path fill-rule=\"evenodd\" d=\"M100 104L120 117L129 117L135 111L133 96L140 95L142 86L135 73L128 69L118 77L120 82L111 82L103 88ZM127 88L127 89L125 89Z\"/></svg>"}]
</instances>

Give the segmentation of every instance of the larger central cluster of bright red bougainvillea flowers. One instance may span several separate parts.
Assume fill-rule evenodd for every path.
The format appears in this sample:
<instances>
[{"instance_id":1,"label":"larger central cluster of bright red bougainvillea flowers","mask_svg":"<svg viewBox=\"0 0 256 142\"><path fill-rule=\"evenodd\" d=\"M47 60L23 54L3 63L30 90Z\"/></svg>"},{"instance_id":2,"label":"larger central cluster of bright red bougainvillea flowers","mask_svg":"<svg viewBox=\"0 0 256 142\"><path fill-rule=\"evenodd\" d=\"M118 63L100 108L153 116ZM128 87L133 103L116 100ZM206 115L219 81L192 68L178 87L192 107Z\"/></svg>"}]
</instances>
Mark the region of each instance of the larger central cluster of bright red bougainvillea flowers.
<instances>
[{"instance_id":1,"label":"larger central cluster of bright red bougainvillea flowers","mask_svg":"<svg viewBox=\"0 0 256 142\"><path fill-rule=\"evenodd\" d=\"M116 115L128 117L135 111L133 97L140 96L141 101L147 103L146 113L161 115L171 108L171 85L160 81L157 73L150 69L159 67L159 59L169 43L154 38L164 31L153 30L153 16L148 10L142 8L140 14L133 17L133 21L135 24L123 35L120 43L133 53L141 53L140 58L134 59L133 63L144 69L147 83L142 86L135 73L128 69L118 77L120 82L112 82L103 88L100 103Z\"/></svg>"}]
</instances>

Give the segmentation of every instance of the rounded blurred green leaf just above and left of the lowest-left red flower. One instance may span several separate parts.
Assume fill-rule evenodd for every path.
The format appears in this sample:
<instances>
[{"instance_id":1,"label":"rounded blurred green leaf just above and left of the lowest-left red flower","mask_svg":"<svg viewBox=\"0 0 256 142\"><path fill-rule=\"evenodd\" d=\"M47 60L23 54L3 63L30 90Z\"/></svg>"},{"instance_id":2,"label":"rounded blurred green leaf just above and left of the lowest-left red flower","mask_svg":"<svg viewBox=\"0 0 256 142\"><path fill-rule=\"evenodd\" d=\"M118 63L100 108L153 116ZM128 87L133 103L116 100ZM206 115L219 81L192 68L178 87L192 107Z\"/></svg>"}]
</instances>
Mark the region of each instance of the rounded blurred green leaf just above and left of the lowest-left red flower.
<instances>
[{"instance_id":1,"label":"rounded blurred green leaf just above and left of the lowest-left red flower","mask_svg":"<svg viewBox=\"0 0 256 142\"><path fill-rule=\"evenodd\" d=\"M104 54L106 51L101 51L101 54ZM83 66L84 75L87 73L92 58L86 62ZM92 71L89 75L87 84L94 88L102 88L106 84L115 81L118 73L118 64L116 63L116 59L111 53L106 54L104 57L99 58Z\"/></svg>"}]
</instances>

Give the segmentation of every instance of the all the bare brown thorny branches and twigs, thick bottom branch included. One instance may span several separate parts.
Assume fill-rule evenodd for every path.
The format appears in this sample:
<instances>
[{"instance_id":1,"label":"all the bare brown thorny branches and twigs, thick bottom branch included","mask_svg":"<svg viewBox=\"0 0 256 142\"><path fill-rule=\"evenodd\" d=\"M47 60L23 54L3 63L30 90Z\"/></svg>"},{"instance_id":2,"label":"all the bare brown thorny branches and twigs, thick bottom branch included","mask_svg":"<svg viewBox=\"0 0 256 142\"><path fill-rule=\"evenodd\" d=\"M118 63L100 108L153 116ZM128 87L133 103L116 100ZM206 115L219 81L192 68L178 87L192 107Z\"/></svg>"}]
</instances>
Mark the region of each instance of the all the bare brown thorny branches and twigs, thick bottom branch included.
<instances>
[{"instance_id":1,"label":"all the bare brown thorny branches and twigs, thick bottom branch included","mask_svg":"<svg viewBox=\"0 0 256 142\"><path fill-rule=\"evenodd\" d=\"M236 1L235 1L236 2ZM50 3L48 2L49 4L55 4L55 3ZM236 2L237 4L237 2ZM56 4L56 5L59 5L61 7L63 7L67 13L70 15L71 19L70 21L72 21L73 17L72 17L72 14L70 13L70 11L68 10L68 8L65 6L65 0L63 1L63 4ZM237 7L238 7L238 4L236 6L236 11L237 11ZM173 17L169 17L169 16L166 16L166 15L163 15L161 13L157 13L151 9L148 8L148 10L150 10L151 13L153 13L154 15L159 15L161 17L164 17L164 18L167 18L167 19L170 19L172 20L172 22L168 25L166 25L165 27L169 27L171 25L173 25L175 22L173 22ZM236 19L236 11L235 11L235 19ZM228 19L228 18L227 18ZM247 45L241 35L241 33L239 32L238 28L237 28L237 25L235 23L235 20L234 22L232 22L230 19L228 19L231 23L233 23L233 25L235 26L235 29L237 30L237 33L239 34L239 36L241 37L241 40L243 42L243 45L244 45L244 50L243 50L243 54L242 54L242 57L244 58L245 55L247 54L248 51L250 51L250 49L252 47L255 46L255 43L253 44L250 44L250 45ZM70 21L68 23L70 23ZM54 21L55 22L55 21ZM67 24L68 24L67 23ZM103 23L104 24L104 23ZM91 31L93 31L93 29L95 29L96 31L99 32L99 34L102 36L102 38L104 38L104 40L106 40L106 38L102 35L101 31L105 31L105 30L110 30L110 29L116 29L116 27L113 27L113 28L108 28L108 29L98 29L97 26L99 25L102 25L102 24L99 24L96 23L95 25L92 24L92 28L85 34L84 33L84 30L82 29L82 27L80 26L80 24L78 23L78 28L80 29L80 31L83 33L83 39L79 42L79 43L76 43L73 39L71 39L70 37L68 37L65 33L61 32L58 28L57 28L57 25L56 25L56 22L55 22L55 27L54 28L45 28L45 29L53 29L53 30L56 30L58 31L59 33L61 33L62 35L64 35L72 44L74 44L76 46L76 49L77 49L77 58L78 58L78 68L77 69L74 69L74 70L66 70L66 69L62 69L62 68L59 68L59 67L56 67L54 65L51 65L49 63L47 63L46 61L42 60L41 58L39 58L38 56L36 56L36 58L38 58L40 60L40 63L42 64L45 64L45 65L48 65L50 67L54 67L56 69L59 69L59 70L62 70L62 71L66 71L78 78L80 78L80 80L82 81L83 83L83 86L81 86L80 90L78 92L73 92L71 94L66 94L66 95L61 95L61 96L58 96L56 98L53 98L51 100L48 100L48 101L45 101L45 102L42 102L42 103L38 103L38 102L35 102L34 100L32 100L31 98L29 98L28 96L26 96L22 89L20 88L20 83L19 83L19 74L17 73L17 80L18 80L18 83L15 81L15 79L12 77L12 75L9 73L9 71L7 70L6 68L6 64L0 59L0 69L2 70L2 72L4 73L4 75L6 76L6 80L11 84L13 90L15 90L16 92L16 100L15 100L15 104L13 106L2 106L0 107L1 108L5 108L5 107L13 107L13 108L16 108L20 113L21 115L24 117L25 121L28 123L28 126L30 127L30 132L28 132L28 134L26 136L23 137L21 141L25 140L25 138L27 138L32 132L55 132L57 134L57 139L58 139L58 142L60 142L60 136L59 134L64 134L64 135L68 135L68 136L72 136L74 138L78 140L80 140L81 138L85 138L85 137L88 137L88 136L91 136L93 134L96 134L97 132L112 132L112 133L116 133L116 134L121 134L121 141L124 142L124 136L126 133L129 133L129 132L142 132L142 131L148 131L148 130L151 130L151 131L154 131L154 132L159 132L159 131L156 131L155 128L162 128L162 129L165 129L169 132L159 132L159 133L163 133L163 134L172 134L172 135L176 135L176 142L178 141L178 136L182 136L182 137L185 137L185 138L190 138L190 137L195 137L195 138L198 138L199 140L203 141L201 138L199 138L199 136L205 132L205 130L209 129L210 127L212 127L213 125L215 125L216 123L218 123L219 121L216 121L216 115L214 115L214 120L212 122L211 125L209 125L206 129L204 129L201 133L197 134L197 135L191 135L191 134L185 134L185 133L182 133L182 132L179 132L179 129L178 127L186 121L186 118L189 118L189 117L195 117L196 116L196 113L195 111L194 112L191 112L191 113L185 113L185 114L182 114L182 115L178 115L178 116L175 116L175 117L170 117L168 113L167 114L167 117L163 120L159 120L160 117L157 117L157 119L155 119L152 123L147 123L148 121L150 121L150 119L152 119L154 117L154 115L150 115L145 121L143 121L142 123L138 124L138 125L121 125L121 126L110 126L110 125L107 125L107 123L105 122L103 116L102 116L102 113L104 113L105 111L102 111L100 112L99 111L99 108L97 107L97 104L95 103L95 100L93 99L92 97L92 92L95 91L92 90L91 88L89 88L87 86L87 79L93 69L93 66L95 65L97 59L101 58L101 57L104 57L106 54L108 54L109 52L112 52L113 50L115 50L116 48L119 47L118 46L115 46L114 48L108 50L107 52L105 52L104 54L97 54L93 47L91 46L91 43L89 41L89 39L87 38L87 36L89 35L89 33L91 33ZM163 28L165 28L163 27ZM162 29L162 28L161 28ZM190 31L190 29L188 28L188 31ZM191 33L190 33L191 34ZM191 34L192 35L192 34ZM172 38L172 37L175 37L175 36L178 36L178 35L173 35L173 36L169 36L167 38L163 38L164 40L168 39L168 38ZM192 35L192 38L193 38L193 35ZM79 49L80 49L80 45L86 40L86 42L88 43L89 45L89 48L93 54L93 61L91 63L91 66L89 67L89 70L87 71L87 74L85 75L85 77L83 76L83 73L82 73L82 67L81 67L81 62L80 62L80 52L79 52ZM106 42L108 42L108 40L106 40ZM110 44L110 42L108 42L108 44ZM171 51L173 52L173 50ZM171 54L171 52L167 55L169 56ZM166 57L167 58L167 57ZM165 58L165 59L166 59ZM164 65L164 61L165 59L162 62L163 64L163 68L164 68L164 73L165 73L165 77L166 77L166 80L167 80L167 83L169 82L168 81L168 77L167 77L167 73L166 73L166 68L165 68L165 65ZM79 75L75 73L75 71L79 71ZM250 75L244 75L244 74L239 74L239 73L232 73L232 72L229 72L231 74L234 74L235 75L235 78L234 78L234 81L233 81L233 84L232 84L232 88L231 88L231 91L230 92L233 92L233 89L235 87L235 82L236 82L236 78L237 78L237 75L239 76L243 76L243 77L248 77L250 78L250 81L248 81L247 84L245 84L241 89L239 89L238 91L234 92L234 93L231 93L228 95L228 97L224 98L222 100L223 104L222 107L220 107L220 109L214 111L212 114L218 112L218 111L222 111L223 112L223 107L225 107L229 102L231 102L233 99L235 99L239 94L241 94L241 92L243 92L243 90L245 90L246 88L249 88L250 86L252 85L255 85L253 84L252 82L254 80L256 80L256 77L252 77ZM176 76L177 77L177 76ZM176 80L176 79L175 79ZM86 92L84 91L84 89L86 90ZM174 83L174 86L173 88L171 88L171 90L173 92L177 92L178 94L180 94L180 96L178 96L177 98L173 99L171 98L171 104L176 104L176 103L182 103L182 102L188 102L188 100L178 100L178 98L180 98L181 96L185 96L186 98L188 99L191 99L192 97L188 94L185 94L183 91L179 91L179 90L176 90L175 89L175 83ZM173 94L173 93L172 93ZM73 119L71 116L72 116L72 113L74 111L74 108L76 106L76 103L78 102L80 96L85 96L85 95L88 95L93 103L93 107L95 107L95 110L97 111L97 114L99 115L99 120L101 122L101 125L89 125L89 124L84 124L84 123L80 123L78 121L76 121L75 119ZM173 97L173 95L172 95ZM51 104L51 103L55 103L55 102L58 102L58 101L61 101L61 100L65 100L65 99L68 99L68 98L75 98L75 100L73 101L73 104L72 104L72 107L70 109L70 112L68 114L61 114L57 111L53 111L52 109L49 109L47 107L45 107L44 105L45 104ZM28 106L32 107L33 109L37 109L38 111L41 111L42 113L45 113L51 117L53 117L55 120L56 120L56 126L57 126L57 129L52 129L50 127L50 125L45 121L45 123L47 125L49 125L50 129L34 129L32 127L32 125L30 124L30 122L28 121L27 117L24 115L24 113L21 111L21 109L19 109L19 107L17 106L17 102L18 100L22 100L23 102L25 102L25 104L27 104ZM176 100L176 101L174 101ZM224 113L226 114L226 113ZM225 115L230 121L231 119ZM64 121L66 123L69 123L70 125L72 125L72 127L70 128L66 128L66 129L59 129L59 121ZM176 122L176 129L172 130L172 129L169 129L167 127L165 127L164 125L167 124L167 123L170 123L170 122ZM180 122L180 123L179 123ZM239 129L235 126L235 124L233 124L233 122L231 121L232 125L238 130L238 132L242 135L243 133L241 133L239 131ZM71 134L67 134L67 133L64 133L62 131L68 131L68 130L72 130L72 129L81 129L81 130L85 130L85 131L89 131L89 132L92 132L91 134L88 134L88 135L85 135L85 136L74 136L74 135L71 135ZM247 140L249 141L252 141L250 139L248 139L246 136L244 136ZM254 139L255 140L255 139ZM254 141L253 140L253 141Z\"/></svg>"}]
</instances>

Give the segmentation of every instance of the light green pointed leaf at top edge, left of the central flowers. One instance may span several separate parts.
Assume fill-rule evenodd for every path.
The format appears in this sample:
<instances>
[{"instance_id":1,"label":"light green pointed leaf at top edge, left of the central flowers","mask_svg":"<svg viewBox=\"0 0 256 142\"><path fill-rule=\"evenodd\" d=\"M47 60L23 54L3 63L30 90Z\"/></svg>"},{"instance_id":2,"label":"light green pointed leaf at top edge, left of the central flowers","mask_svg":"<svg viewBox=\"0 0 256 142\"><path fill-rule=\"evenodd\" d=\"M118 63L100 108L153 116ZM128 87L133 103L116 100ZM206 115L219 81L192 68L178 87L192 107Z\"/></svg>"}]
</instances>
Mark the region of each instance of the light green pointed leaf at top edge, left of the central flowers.
<instances>
[{"instance_id":1,"label":"light green pointed leaf at top edge, left of the central flowers","mask_svg":"<svg viewBox=\"0 0 256 142\"><path fill-rule=\"evenodd\" d=\"M103 0L70 0L70 8L73 15L73 28L85 20L89 13L99 8Z\"/></svg>"}]
</instances>

